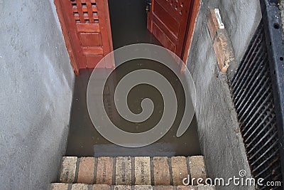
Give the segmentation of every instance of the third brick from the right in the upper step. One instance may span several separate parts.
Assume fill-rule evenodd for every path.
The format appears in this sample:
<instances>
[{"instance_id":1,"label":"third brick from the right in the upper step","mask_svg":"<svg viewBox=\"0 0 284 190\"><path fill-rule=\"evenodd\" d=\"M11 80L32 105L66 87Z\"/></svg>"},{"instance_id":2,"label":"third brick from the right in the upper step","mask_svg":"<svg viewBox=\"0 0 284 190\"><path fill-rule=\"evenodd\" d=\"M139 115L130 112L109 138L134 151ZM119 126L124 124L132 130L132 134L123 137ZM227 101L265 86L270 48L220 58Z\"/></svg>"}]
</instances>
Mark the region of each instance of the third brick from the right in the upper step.
<instances>
[{"instance_id":1,"label":"third brick from the right in the upper step","mask_svg":"<svg viewBox=\"0 0 284 190\"><path fill-rule=\"evenodd\" d=\"M170 185L170 169L168 164L168 157L154 157L153 165L155 186Z\"/></svg>"}]
</instances>

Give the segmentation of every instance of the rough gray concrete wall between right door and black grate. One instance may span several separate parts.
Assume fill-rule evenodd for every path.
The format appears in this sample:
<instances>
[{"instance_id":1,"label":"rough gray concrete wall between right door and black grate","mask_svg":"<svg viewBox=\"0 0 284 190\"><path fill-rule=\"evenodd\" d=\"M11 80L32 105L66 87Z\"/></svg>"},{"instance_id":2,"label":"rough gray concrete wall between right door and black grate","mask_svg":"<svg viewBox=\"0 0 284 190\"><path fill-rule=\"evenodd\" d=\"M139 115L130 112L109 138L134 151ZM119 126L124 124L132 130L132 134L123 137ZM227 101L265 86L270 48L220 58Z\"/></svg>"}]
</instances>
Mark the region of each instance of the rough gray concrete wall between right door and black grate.
<instances>
[{"instance_id":1,"label":"rough gray concrete wall between right door and black grate","mask_svg":"<svg viewBox=\"0 0 284 190\"><path fill-rule=\"evenodd\" d=\"M202 153L210 177L239 176L245 169L251 176L244 144L239 133L234 105L231 101L228 78L217 65L212 41L207 28L209 8L219 8L236 55L233 72L261 20L258 1L203 0L197 17L187 66L197 89L196 117ZM245 186L217 186L217 189L250 189Z\"/></svg>"}]
</instances>

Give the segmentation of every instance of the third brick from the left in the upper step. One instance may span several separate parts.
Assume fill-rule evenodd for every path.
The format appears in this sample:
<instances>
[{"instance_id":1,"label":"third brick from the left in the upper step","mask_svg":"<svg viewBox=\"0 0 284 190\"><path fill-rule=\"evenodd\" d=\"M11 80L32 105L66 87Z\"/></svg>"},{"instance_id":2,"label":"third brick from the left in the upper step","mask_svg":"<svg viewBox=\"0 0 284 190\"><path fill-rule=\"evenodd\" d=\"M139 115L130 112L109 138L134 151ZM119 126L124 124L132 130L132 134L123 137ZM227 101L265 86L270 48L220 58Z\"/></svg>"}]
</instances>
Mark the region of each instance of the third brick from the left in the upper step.
<instances>
[{"instance_id":1,"label":"third brick from the left in the upper step","mask_svg":"<svg viewBox=\"0 0 284 190\"><path fill-rule=\"evenodd\" d=\"M113 174L113 163L112 157L99 157L97 162L97 184L112 184Z\"/></svg>"}]
</instances>

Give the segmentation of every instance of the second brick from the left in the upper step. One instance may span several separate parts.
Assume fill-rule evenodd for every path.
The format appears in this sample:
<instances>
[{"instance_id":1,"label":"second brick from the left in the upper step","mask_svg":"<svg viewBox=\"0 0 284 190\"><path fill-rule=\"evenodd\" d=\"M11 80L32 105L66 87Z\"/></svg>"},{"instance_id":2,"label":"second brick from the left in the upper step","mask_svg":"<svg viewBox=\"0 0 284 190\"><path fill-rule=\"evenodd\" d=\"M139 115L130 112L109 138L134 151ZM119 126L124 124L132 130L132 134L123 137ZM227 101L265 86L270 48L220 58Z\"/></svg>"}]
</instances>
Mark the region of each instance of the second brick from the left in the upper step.
<instances>
[{"instance_id":1,"label":"second brick from the left in the upper step","mask_svg":"<svg viewBox=\"0 0 284 190\"><path fill-rule=\"evenodd\" d=\"M94 184L94 157L80 158L77 183Z\"/></svg>"}]
</instances>

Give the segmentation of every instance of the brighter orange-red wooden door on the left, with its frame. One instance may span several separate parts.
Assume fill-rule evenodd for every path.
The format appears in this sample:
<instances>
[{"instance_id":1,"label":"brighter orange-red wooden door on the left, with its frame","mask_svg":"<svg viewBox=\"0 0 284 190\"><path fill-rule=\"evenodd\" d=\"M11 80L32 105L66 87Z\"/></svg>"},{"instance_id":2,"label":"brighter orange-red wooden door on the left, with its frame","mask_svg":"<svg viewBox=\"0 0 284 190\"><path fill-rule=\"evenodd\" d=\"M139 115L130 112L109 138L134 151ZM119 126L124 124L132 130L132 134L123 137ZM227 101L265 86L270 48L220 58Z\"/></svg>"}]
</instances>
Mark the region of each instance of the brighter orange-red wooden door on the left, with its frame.
<instances>
[{"instance_id":1,"label":"brighter orange-red wooden door on the left, with its frame","mask_svg":"<svg viewBox=\"0 0 284 190\"><path fill-rule=\"evenodd\" d=\"M75 74L113 51L107 0L55 0L55 6Z\"/></svg>"}]
</instances>

